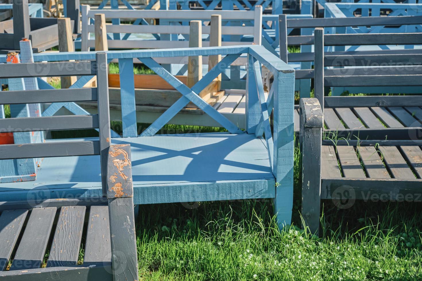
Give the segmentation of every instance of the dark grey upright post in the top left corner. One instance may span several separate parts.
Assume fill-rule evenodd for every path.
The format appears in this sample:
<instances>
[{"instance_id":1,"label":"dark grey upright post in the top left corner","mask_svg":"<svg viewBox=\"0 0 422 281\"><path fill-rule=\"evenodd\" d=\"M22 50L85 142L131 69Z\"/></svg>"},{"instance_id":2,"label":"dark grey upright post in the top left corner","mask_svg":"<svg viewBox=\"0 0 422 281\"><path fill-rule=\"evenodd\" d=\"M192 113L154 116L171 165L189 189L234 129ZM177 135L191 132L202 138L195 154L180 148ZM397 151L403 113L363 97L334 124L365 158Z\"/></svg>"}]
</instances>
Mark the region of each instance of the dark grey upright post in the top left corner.
<instances>
[{"instance_id":1,"label":"dark grey upright post in the top left corner","mask_svg":"<svg viewBox=\"0 0 422 281\"><path fill-rule=\"evenodd\" d=\"M30 38L30 33L28 0L13 0L13 37L16 50L19 50L19 41Z\"/></svg>"}]
</instances>

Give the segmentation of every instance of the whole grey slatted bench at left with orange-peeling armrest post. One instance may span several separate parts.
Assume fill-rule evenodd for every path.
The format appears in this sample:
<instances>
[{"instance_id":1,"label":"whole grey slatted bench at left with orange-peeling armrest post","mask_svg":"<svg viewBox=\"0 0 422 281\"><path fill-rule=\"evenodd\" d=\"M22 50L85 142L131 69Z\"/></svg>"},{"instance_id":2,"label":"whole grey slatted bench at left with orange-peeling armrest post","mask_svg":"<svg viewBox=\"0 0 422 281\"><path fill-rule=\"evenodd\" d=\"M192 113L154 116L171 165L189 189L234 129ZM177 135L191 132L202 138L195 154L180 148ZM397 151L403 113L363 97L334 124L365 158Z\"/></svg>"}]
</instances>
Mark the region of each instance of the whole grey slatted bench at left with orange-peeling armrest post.
<instances>
[{"instance_id":1,"label":"whole grey slatted bench at left with orange-peeling armrest post","mask_svg":"<svg viewBox=\"0 0 422 281\"><path fill-rule=\"evenodd\" d=\"M9 56L17 61L16 53ZM93 61L0 64L0 73L9 87L22 86L21 91L0 92L0 104L28 111L23 102L97 101L99 109L95 115L0 119L2 131L14 134L99 129L98 140L0 145L0 161L100 155L103 188L102 198L0 202L1 280L138 280L130 145L110 145L106 53L97 53ZM98 87L24 90L24 79L71 75L96 75Z\"/></svg>"}]
</instances>

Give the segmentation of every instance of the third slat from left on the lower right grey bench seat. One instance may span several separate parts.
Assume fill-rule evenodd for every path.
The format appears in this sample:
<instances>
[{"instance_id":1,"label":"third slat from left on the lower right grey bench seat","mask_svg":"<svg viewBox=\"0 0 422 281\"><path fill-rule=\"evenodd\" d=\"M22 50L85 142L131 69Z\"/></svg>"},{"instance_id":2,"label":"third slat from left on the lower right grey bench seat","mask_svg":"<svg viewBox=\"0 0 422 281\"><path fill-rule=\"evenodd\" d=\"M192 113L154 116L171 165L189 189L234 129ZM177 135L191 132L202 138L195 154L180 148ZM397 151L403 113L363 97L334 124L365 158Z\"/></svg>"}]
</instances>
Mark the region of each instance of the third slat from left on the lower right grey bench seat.
<instances>
[{"instance_id":1,"label":"third slat from left on the lower right grey bench seat","mask_svg":"<svg viewBox=\"0 0 422 281\"><path fill-rule=\"evenodd\" d=\"M366 174L371 179L390 179L384 163L373 146L358 147L360 158L365 166Z\"/></svg>"}]
</instances>

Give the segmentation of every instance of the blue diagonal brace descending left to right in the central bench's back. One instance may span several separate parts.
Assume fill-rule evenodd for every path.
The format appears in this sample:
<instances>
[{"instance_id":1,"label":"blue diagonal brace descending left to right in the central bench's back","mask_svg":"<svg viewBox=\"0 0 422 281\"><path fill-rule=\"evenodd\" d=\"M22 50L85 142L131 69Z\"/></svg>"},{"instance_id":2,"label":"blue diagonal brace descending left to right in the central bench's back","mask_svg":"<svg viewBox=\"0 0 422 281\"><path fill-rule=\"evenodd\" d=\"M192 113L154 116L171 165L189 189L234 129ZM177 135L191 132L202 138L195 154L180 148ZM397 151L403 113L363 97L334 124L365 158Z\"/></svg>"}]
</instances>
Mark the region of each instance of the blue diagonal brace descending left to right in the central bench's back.
<instances>
[{"instance_id":1,"label":"blue diagonal brace descending left to right in the central bench's back","mask_svg":"<svg viewBox=\"0 0 422 281\"><path fill-rule=\"evenodd\" d=\"M193 102L200 109L202 109L205 113L210 115L214 120L216 120L219 124L221 124L224 128L226 128L227 131L229 131L230 133L232 133L232 134L242 133L241 129L239 129L235 124L233 124L230 120L228 120L221 113L216 111L214 109L214 107L211 107L211 105L209 105L207 102L205 102L203 99L201 99L200 96L198 96L196 94L196 92L192 91L186 85L181 83L180 80L178 80L173 75L171 75L170 72L168 72L167 70L162 68L160 66L160 64L155 62L153 59L151 59L151 58L139 58L139 60L141 62L143 62L147 67L149 67L151 70L154 70L155 73L160 75L171 86L173 86L176 90L178 90L183 95L183 97L181 98L181 99L183 99L183 102L186 102L186 104L189 101ZM219 67L219 64L217 64L216 67ZM216 67L214 67L214 68L216 68ZM221 72L221 70L219 70L219 71ZM204 78L205 78L205 76L204 76ZM199 81L198 81L198 83L199 83ZM195 84L195 86L196 86L196 84ZM198 93L199 93L199 91L198 91ZM183 102L178 103L178 106L180 106L180 104L183 104ZM172 107L172 110L174 110L174 109L175 108ZM170 115L170 112L164 112L162 115L165 115L166 118L169 118L168 120L170 120L174 116L174 115ZM164 117L163 117L163 119L164 119ZM158 130L160 130L160 128L162 128L162 126L164 126L164 124L162 124L162 123L156 123L156 124L154 124L154 123L151 124L151 126L149 126L149 128L147 130L143 131L143 133L141 135L142 136L154 135Z\"/></svg>"}]
</instances>

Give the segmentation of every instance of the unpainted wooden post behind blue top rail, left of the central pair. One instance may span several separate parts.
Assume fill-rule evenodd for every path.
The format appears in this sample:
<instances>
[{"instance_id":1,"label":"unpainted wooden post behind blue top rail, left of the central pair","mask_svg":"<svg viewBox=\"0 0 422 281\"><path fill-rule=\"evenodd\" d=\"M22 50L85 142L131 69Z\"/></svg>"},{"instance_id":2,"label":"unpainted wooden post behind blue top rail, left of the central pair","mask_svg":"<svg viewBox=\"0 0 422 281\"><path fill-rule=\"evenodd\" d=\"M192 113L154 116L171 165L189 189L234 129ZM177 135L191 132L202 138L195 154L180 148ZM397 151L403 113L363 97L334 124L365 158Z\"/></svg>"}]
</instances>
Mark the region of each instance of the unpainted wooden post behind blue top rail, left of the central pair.
<instances>
[{"instance_id":1,"label":"unpainted wooden post behind blue top rail, left of the central pair","mask_svg":"<svg viewBox=\"0 0 422 281\"><path fill-rule=\"evenodd\" d=\"M190 21L189 48L202 47L202 21ZM189 56L187 86L191 88L202 79L202 56ZM197 93L199 94L199 93Z\"/></svg>"}]
</instances>

